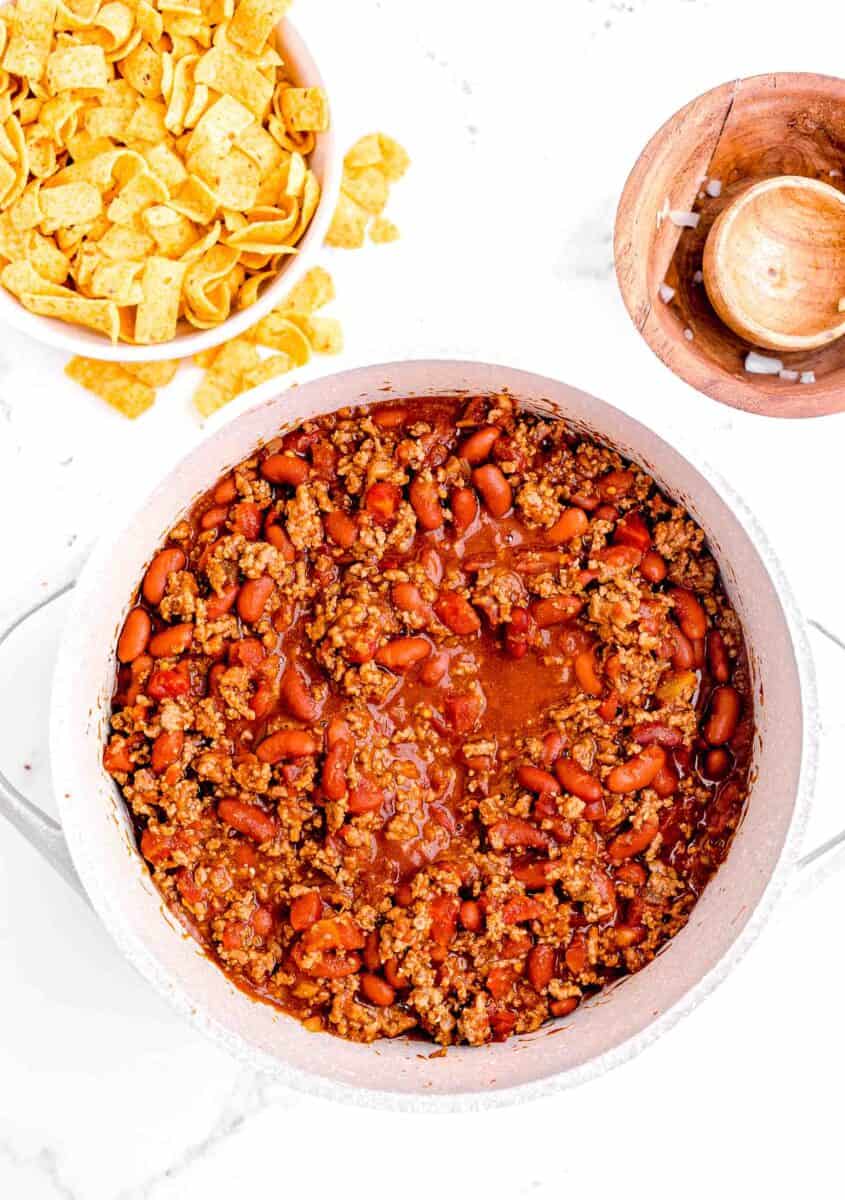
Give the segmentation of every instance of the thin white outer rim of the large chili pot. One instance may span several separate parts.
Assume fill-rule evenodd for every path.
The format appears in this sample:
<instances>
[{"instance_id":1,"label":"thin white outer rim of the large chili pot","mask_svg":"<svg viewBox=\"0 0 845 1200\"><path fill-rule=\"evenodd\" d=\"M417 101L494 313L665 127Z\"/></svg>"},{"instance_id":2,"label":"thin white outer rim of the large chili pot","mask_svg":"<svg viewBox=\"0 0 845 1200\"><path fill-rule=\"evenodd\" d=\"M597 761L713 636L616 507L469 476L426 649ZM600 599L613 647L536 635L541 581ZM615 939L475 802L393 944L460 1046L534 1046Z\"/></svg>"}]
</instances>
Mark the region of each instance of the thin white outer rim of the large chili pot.
<instances>
[{"instance_id":1,"label":"thin white outer rim of the large chili pot","mask_svg":"<svg viewBox=\"0 0 845 1200\"><path fill-rule=\"evenodd\" d=\"M361 367L353 367L347 371L335 372L334 377L346 377L349 390L354 391L355 378L364 372L377 370L389 378L397 368L413 366L424 371L426 366L438 364L449 365L457 374L462 368L479 366L480 360L459 360L450 358L437 359L402 359L392 362L371 364ZM544 384L558 383L547 376L522 371L522 368L510 367L503 364L484 364L492 371L503 373L522 374L526 382L534 380L534 386L541 391ZM319 377L317 377L319 378ZM275 380L254 389L253 402L239 412L230 421L211 427L205 438L216 437L229 425L234 426L247 414L252 414L257 408L278 395L278 386ZM609 402L605 402L609 403ZM625 414L627 416L629 414ZM637 418L630 418L637 425L643 425ZM648 426L645 426L649 428ZM266 1054L250 1045L244 1038L232 1030L224 1027L220 1021L211 1018L204 1009L198 1007L181 990L179 982L166 974L156 955L149 949L143 937L130 930L121 918L121 905L119 895L114 895L102 883L96 869L96 863L91 862L84 852L85 829L78 822L73 808L67 803L65 790L60 785L60 768L74 744L74 732L71 727L62 706L62 696L67 694L70 680L76 670L76 656L73 654L73 631L80 628L86 619L86 594L98 586L102 572L108 571L112 547L127 529L130 529L139 514L145 508L155 487L161 485L157 480L154 487L146 490L140 503L132 504L131 512L124 510L120 516L113 518L107 532L101 534L97 545L91 553L80 575L79 582L73 590L71 610L62 632L59 655L53 676L53 689L50 700L49 719L49 757L50 769L54 773L54 791L59 803L62 827L67 835L71 856L83 882L83 886L91 900L91 904L109 934L118 943L120 950L128 961L143 974L146 980L162 995L179 1013L186 1016L192 1025L198 1027L212 1042L222 1045L229 1054L245 1066L254 1070L271 1075L274 1080L302 1091L322 1099L337 1100L340 1103L354 1104L365 1108L386 1109L392 1111L408 1112L460 1112L475 1111L481 1109L504 1108L523 1100L539 1099L552 1096L563 1090L575 1087L579 1084L588 1082L605 1074L607 1070L628 1062L635 1057L663 1033L667 1032L683 1016L691 1013L717 986L726 978L729 972L745 955L751 944L756 941L763 925L767 923L777 901L784 894L792 871L798 860L798 852L802 845L804 829L809 817L813 786L816 773L817 749L819 749L819 714L815 688L815 672L810 653L809 638L807 635L803 616L797 606L792 589L780 566L779 559L768 540L768 536L760 526L745 502L737 494L735 488L715 470L709 463L685 444L683 436L677 437L677 431L672 431L670 437L660 439L670 449L687 460L694 472L705 482L709 484L730 506L736 521L744 529L748 538L756 548L760 559L769 575L778 600L781 605L792 647L795 652L796 667L798 673L799 696L798 702L803 710L802 721L802 749L798 787L796 790L795 803L789 828L784 838L778 862L769 875L760 900L742 928L738 936L730 944L729 949L714 964L714 966L702 976L675 1004L670 1006L651 1024L639 1033L629 1037L619 1045L611 1048L604 1054L587 1060L579 1067L549 1075L544 1079L528 1084L519 1084L511 1087L502 1087L484 1092L465 1092L457 1094L391 1092L385 1090L371 1090L364 1086L355 1086L347 1082L335 1081L324 1075L312 1074L290 1066L283 1058ZM600 430L597 430L600 433ZM196 451L197 443L180 462ZM166 475L172 475L179 469L179 463L170 464ZM59 776L59 778L56 778ZM245 997L246 998L246 997Z\"/></svg>"}]
</instances>

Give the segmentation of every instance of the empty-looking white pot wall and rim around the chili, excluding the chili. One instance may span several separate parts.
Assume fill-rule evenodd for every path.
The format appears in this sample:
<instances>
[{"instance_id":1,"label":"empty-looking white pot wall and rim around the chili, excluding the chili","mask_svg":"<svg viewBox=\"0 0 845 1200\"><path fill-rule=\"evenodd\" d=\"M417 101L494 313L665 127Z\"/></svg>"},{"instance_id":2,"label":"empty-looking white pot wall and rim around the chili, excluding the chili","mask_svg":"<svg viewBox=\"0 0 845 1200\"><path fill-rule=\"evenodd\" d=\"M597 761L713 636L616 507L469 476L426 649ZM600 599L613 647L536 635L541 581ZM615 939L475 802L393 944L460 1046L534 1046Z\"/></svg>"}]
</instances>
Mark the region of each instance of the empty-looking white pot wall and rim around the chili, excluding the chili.
<instances>
[{"instance_id":1,"label":"empty-looking white pot wall and rim around the chili, excluding the chili","mask_svg":"<svg viewBox=\"0 0 845 1200\"><path fill-rule=\"evenodd\" d=\"M748 810L685 929L648 967L573 1016L502 1044L454 1048L443 1057L422 1052L419 1040L367 1046L308 1033L234 988L152 886L101 761L118 631L164 533L262 439L342 406L503 389L612 443L706 530L751 664L756 737ZM116 535L101 541L71 607L53 686L50 755L79 878L126 956L160 992L216 1042L293 1086L422 1109L504 1103L589 1079L651 1043L714 988L759 932L796 862L815 767L813 672L801 618L762 532L707 470L633 418L553 379L475 362L410 361L348 371L271 396L208 437ZM20 826L31 818L22 817L17 799Z\"/></svg>"}]
</instances>

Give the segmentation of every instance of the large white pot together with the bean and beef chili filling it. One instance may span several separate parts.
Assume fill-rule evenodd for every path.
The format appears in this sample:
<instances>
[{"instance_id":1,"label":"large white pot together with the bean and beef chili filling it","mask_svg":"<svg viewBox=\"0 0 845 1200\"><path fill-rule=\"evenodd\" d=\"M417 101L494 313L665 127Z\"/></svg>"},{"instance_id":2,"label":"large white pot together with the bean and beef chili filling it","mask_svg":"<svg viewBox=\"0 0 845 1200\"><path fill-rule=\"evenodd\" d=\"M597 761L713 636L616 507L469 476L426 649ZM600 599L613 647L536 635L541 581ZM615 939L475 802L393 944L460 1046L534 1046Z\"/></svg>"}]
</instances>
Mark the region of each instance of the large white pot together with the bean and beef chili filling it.
<instances>
[{"instance_id":1,"label":"large white pot together with the bean and beef chili filling it","mask_svg":"<svg viewBox=\"0 0 845 1200\"><path fill-rule=\"evenodd\" d=\"M157 990L294 1086L589 1079L713 989L797 862L813 673L765 535L528 372L264 396L77 584L61 832L5 804Z\"/></svg>"}]
</instances>

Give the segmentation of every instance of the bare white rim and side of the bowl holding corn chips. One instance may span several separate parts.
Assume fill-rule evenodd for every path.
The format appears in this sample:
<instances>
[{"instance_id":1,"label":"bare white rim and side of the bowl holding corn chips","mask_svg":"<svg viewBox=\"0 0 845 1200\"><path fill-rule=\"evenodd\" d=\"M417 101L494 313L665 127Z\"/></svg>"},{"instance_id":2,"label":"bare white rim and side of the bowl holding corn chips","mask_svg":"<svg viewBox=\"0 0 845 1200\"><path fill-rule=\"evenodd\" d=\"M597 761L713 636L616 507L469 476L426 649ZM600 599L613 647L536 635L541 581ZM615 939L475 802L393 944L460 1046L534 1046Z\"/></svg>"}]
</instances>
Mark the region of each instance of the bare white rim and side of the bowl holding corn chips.
<instances>
[{"instance_id":1,"label":"bare white rim and side of the bowl holding corn chips","mask_svg":"<svg viewBox=\"0 0 845 1200\"><path fill-rule=\"evenodd\" d=\"M286 65L296 84L304 88L322 88L331 102L331 92L317 62L289 20L278 23L277 38ZM160 362L162 359L184 359L228 342L275 308L305 271L313 266L314 258L319 254L340 192L340 155L334 118L326 132L317 134L317 144L308 164L319 181L320 198L311 224L298 244L296 253L287 257L275 280L264 284L253 305L233 313L214 329L194 329L187 322L180 322L176 336L169 342L155 346L130 346L126 342L112 344L107 337L92 329L68 325L67 322L56 320L55 317L38 317L29 312L4 287L0 287L0 322L6 322L22 334L29 334L46 346L54 346L70 354L82 354L89 359L101 359L103 362Z\"/></svg>"}]
</instances>

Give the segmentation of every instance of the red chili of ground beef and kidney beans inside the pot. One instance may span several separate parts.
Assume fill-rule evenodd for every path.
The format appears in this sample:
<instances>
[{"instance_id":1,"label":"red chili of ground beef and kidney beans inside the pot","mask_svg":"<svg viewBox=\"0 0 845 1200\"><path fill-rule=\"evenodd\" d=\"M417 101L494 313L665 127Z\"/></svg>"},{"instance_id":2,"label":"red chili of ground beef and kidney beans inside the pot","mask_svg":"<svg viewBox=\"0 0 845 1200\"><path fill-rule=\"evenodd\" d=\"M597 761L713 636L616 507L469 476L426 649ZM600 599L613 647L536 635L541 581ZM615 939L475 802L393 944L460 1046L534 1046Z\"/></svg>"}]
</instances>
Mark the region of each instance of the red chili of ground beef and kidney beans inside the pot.
<instances>
[{"instance_id":1,"label":"red chili of ground beef and kidney beans inside the pot","mask_svg":"<svg viewBox=\"0 0 845 1200\"><path fill-rule=\"evenodd\" d=\"M508 396L274 439L150 564L107 770L167 904L310 1030L478 1045L684 925L748 791L702 530Z\"/></svg>"}]
</instances>

